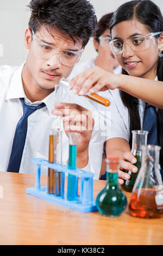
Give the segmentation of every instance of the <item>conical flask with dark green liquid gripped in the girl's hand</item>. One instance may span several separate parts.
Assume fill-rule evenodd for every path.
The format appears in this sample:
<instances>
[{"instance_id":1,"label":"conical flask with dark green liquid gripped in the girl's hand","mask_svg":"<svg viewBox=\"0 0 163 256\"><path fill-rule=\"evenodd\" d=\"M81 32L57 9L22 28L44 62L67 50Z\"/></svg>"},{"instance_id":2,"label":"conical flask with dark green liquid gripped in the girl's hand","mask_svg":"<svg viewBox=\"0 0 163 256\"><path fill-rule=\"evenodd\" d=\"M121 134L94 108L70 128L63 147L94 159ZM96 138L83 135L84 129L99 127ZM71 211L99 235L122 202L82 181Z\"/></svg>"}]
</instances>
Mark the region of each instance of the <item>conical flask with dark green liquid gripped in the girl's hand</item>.
<instances>
[{"instance_id":1,"label":"conical flask with dark green liquid gripped in the girl's hand","mask_svg":"<svg viewBox=\"0 0 163 256\"><path fill-rule=\"evenodd\" d=\"M122 188L128 192L132 192L135 180L137 178L137 174L139 173L139 169L141 166L141 154L142 154L142 145L147 144L147 135L148 131L132 131L133 133L133 140L132 140L132 148L131 153L135 156L137 159L137 162L134 164L134 166L137 167L137 172L133 173L130 170L123 170L124 172L128 173L130 175L129 180L124 180L124 183L121 185Z\"/></svg>"}]
</instances>

